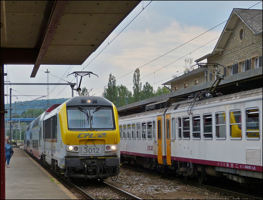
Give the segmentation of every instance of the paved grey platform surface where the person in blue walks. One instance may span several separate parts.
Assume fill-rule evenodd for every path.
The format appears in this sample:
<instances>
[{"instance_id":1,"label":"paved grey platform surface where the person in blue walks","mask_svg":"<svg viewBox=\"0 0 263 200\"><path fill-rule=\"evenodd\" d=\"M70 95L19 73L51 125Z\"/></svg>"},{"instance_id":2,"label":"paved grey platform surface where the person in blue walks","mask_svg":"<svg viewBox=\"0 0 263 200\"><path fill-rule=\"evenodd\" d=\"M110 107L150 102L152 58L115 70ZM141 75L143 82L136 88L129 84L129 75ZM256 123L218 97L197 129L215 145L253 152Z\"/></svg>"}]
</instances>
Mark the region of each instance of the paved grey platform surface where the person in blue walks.
<instances>
[{"instance_id":1,"label":"paved grey platform surface where the person in blue walks","mask_svg":"<svg viewBox=\"0 0 263 200\"><path fill-rule=\"evenodd\" d=\"M78 199L22 148L13 148L6 168L6 199Z\"/></svg>"}]
</instances>

